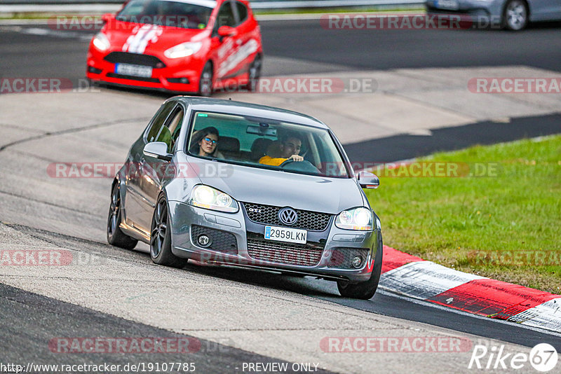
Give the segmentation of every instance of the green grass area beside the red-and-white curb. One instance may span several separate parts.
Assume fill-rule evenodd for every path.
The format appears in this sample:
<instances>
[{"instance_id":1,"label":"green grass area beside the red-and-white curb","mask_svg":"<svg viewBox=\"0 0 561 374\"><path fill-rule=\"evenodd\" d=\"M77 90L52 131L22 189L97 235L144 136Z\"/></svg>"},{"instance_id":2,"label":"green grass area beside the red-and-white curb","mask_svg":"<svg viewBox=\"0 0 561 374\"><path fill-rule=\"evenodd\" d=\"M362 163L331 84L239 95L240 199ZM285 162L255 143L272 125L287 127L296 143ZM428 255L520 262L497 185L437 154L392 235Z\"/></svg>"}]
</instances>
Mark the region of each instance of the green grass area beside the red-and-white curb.
<instances>
[{"instance_id":1,"label":"green grass area beside the red-and-white curb","mask_svg":"<svg viewBox=\"0 0 561 374\"><path fill-rule=\"evenodd\" d=\"M475 162L491 163L498 172L381 172L380 187L367 196L380 216L384 244L464 272L561 293L561 136L474 146L418 161L437 160L461 163L460 170L464 162L471 170ZM547 260L500 257L513 255Z\"/></svg>"}]
</instances>

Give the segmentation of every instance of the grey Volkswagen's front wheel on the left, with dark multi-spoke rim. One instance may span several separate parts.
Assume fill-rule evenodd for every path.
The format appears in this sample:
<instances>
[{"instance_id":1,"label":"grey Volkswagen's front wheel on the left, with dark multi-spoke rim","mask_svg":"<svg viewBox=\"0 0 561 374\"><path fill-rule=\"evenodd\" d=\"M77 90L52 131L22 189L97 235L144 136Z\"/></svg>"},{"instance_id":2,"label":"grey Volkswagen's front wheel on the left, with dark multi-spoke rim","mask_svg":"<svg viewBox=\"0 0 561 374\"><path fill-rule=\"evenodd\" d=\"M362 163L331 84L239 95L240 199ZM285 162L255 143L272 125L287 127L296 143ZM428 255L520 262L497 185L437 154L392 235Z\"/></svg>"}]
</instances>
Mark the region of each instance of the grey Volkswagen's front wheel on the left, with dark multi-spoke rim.
<instances>
[{"instance_id":1,"label":"grey Volkswagen's front wheel on the left, with dark multi-spoke rim","mask_svg":"<svg viewBox=\"0 0 561 374\"><path fill-rule=\"evenodd\" d=\"M171 253L171 226L168 202L165 196L158 198L150 228L150 258L154 263L171 268L183 268L187 259Z\"/></svg>"}]
</instances>

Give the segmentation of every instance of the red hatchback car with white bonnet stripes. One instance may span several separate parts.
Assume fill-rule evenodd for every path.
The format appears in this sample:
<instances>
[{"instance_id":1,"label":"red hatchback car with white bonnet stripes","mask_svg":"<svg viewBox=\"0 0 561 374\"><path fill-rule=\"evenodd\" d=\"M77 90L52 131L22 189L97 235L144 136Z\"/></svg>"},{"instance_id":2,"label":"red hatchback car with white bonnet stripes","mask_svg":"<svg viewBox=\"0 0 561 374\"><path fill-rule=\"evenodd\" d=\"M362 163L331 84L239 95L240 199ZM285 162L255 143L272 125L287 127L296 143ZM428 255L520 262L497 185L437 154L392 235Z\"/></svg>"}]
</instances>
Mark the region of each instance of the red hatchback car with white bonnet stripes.
<instances>
[{"instance_id":1,"label":"red hatchback car with white bonnet stripes","mask_svg":"<svg viewBox=\"0 0 561 374\"><path fill-rule=\"evenodd\" d=\"M92 81L193 92L255 90L263 48L245 0L130 0L90 42Z\"/></svg>"}]
</instances>

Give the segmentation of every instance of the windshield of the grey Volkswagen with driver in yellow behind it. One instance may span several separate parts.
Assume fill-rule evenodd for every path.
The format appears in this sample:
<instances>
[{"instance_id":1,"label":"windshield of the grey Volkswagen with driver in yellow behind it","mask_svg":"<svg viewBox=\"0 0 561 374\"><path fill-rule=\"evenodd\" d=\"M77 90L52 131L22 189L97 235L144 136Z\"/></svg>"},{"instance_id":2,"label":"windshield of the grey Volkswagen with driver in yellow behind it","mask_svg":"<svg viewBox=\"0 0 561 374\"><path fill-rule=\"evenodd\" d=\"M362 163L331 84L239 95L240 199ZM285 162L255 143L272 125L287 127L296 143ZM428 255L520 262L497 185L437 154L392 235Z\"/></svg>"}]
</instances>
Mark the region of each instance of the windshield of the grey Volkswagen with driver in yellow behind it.
<instances>
[{"instance_id":1,"label":"windshield of the grey Volkswagen with driver in yellow behind it","mask_svg":"<svg viewBox=\"0 0 561 374\"><path fill-rule=\"evenodd\" d=\"M250 167L348 178L326 129L225 113L194 113L188 153Z\"/></svg>"}]
</instances>

